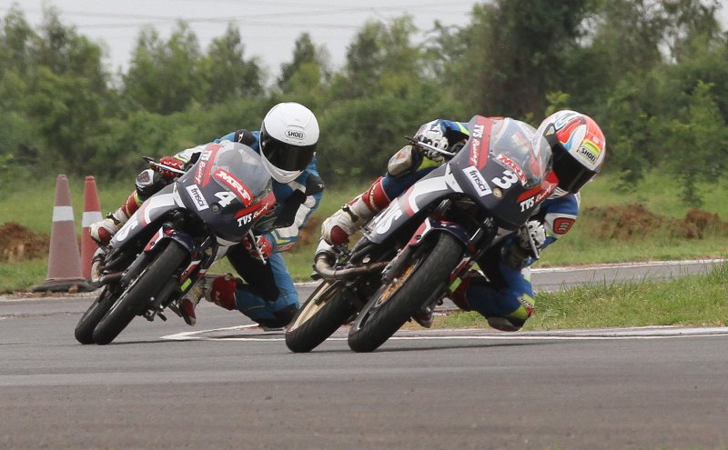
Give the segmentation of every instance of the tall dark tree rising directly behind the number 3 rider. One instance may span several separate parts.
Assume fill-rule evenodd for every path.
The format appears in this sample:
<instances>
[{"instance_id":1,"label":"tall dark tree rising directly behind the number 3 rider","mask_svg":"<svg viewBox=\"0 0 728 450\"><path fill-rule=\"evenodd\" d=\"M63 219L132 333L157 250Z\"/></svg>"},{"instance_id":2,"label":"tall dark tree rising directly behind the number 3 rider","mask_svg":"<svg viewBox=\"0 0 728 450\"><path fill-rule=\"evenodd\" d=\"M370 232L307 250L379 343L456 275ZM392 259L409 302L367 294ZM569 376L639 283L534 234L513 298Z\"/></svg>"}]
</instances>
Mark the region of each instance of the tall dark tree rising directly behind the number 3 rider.
<instances>
[{"instance_id":1,"label":"tall dark tree rising directly behind the number 3 rider","mask_svg":"<svg viewBox=\"0 0 728 450\"><path fill-rule=\"evenodd\" d=\"M478 5L462 34L468 52L461 83L473 106L490 115L541 117L546 94L565 91L566 70L583 35L589 0L497 0Z\"/></svg>"}]
</instances>

